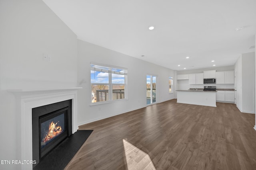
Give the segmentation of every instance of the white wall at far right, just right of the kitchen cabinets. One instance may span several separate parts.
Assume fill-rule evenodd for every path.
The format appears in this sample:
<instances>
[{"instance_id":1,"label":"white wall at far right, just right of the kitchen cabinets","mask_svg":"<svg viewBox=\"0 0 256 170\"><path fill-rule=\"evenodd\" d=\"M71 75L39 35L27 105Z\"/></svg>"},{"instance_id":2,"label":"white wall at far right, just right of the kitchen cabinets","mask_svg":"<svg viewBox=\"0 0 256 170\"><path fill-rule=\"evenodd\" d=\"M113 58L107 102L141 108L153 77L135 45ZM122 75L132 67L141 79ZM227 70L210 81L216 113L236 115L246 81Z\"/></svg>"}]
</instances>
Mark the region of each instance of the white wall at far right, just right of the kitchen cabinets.
<instances>
[{"instance_id":1,"label":"white wall at far right, just right of the kitchen cabinets","mask_svg":"<svg viewBox=\"0 0 256 170\"><path fill-rule=\"evenodd\" d=\"M241 112L255 113L255 53L244 53L235 64L236 105Z\"/></svg>"}]
</instances>

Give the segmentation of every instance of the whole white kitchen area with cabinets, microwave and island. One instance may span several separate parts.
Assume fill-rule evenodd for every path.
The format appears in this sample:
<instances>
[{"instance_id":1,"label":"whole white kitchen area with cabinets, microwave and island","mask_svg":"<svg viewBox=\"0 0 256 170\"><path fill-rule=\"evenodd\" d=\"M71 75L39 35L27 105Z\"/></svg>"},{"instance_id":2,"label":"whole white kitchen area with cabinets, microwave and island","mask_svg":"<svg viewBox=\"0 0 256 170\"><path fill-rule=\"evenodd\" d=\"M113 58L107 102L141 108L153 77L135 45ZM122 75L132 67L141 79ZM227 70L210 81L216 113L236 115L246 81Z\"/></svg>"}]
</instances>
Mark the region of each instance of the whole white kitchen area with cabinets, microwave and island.
<instances>
[{"instance_id":1,"label":"whole white kitchen area with cabinets, microwave and island","mask_svg":"<svg viewBox=\"0 0 256 170\"><path fill-rule=\"evenodd\" d=\"M212 107L216 102L235 103L234 70L177 74L177 86L177 103Z\"/></svg>"}]
</instances>

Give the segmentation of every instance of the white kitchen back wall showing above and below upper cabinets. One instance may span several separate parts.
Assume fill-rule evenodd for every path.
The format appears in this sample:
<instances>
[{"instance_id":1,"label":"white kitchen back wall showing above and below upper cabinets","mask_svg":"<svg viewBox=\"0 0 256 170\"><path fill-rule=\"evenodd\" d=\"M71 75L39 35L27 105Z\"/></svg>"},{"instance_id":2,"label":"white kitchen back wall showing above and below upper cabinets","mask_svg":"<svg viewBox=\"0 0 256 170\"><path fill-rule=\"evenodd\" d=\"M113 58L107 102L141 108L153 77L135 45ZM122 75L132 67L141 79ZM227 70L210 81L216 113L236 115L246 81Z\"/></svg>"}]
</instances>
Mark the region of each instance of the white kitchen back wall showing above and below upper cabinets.
<instances>
[{"instance_id":1,"label":"white kitchen back wall showing above and below upper cabinets","mask_svg":"<svg viewBox=\"0 0 256 170\"><path fill-rule=\"evenodd\" d=\"M177 71L177 74L202 73L205 70L228 71L234 70L234 66L220 66L211 68L200 68L194 70ZM234 88L234 84L189 84L188 80L177 80L177 90L188 90L189 88L204 88L204 86L216 86L216 88Z\"/></svg>"}]
</instances>

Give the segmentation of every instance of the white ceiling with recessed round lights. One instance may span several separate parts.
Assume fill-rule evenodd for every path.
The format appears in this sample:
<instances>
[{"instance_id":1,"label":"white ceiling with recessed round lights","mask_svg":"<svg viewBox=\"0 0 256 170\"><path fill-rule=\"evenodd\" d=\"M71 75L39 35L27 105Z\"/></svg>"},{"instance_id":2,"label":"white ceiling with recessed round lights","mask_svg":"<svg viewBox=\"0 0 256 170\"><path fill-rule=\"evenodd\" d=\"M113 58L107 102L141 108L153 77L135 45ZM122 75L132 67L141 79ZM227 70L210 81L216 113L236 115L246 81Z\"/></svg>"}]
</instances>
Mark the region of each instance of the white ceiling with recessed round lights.
<instances>
[{"instance_id":1,"label":"white ceiling with recessed round lights","mask_svg":"<svg viewBox=\"0 0 256 170\"><path fill-rule=\"evenodd\" d=\"M78 39L173 70L234 65L255 50L256 0L43 1Z\"/></svg>"}]
</instances>

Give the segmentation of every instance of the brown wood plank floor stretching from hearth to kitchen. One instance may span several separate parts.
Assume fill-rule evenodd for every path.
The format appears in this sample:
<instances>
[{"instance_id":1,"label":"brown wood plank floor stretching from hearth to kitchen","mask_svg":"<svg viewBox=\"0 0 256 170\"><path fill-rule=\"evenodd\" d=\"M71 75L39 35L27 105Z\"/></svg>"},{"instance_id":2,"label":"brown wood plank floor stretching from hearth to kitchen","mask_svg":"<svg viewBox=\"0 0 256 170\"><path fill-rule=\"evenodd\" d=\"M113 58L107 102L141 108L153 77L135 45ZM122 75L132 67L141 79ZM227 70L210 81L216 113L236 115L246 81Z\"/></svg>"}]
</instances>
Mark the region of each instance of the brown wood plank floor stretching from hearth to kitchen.
<instances>
[{"instance_id":1,"label":"brown wood plank floor stretching from hearth to kitchen","mask_svg":"<svg viewBox=\"0 0 256 170\"><path fill-rule=\"evenodd\" d=\"M256 170L255 115L170 100L79 127L91 136L66 167Z\"/></svg>"}]
</instances>

